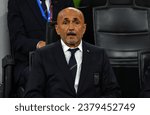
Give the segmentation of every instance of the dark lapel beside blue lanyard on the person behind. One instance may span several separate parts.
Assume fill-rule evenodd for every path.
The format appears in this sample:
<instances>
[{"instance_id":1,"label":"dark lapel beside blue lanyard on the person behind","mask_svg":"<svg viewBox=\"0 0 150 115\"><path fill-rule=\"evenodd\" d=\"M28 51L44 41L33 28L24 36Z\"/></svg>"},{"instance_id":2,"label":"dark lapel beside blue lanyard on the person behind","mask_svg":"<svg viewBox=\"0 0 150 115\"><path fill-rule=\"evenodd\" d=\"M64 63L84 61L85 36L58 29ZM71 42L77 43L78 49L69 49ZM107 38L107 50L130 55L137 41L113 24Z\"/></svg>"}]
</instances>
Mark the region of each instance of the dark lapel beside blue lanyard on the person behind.
<instances>
[{"instance_id":1,"label":"dark lapel beside blue lanyard on the person behind","mask_svg":"<svg viewBox=\"0 0 150 115\"><path fill-rule=\"evenodd\" d=\"M35 16L35 19L39 22L41 27L45 29L45 24L46 20L42 17L41 11L38 7L37 1L36 0L27 0L30 8L32 9L31 11L33 12L33 15Z\"/></svg>"}]
</instances>

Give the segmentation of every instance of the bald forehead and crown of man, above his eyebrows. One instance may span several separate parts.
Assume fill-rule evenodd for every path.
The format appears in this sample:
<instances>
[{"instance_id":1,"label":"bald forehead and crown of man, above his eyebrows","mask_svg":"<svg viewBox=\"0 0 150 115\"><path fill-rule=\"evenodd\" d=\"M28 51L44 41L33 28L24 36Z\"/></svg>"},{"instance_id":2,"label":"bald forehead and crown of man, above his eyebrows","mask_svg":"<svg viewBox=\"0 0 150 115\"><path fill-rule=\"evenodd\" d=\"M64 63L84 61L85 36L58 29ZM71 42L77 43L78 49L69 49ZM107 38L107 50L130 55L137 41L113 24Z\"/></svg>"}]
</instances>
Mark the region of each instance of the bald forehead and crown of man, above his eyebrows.
<instances>
[{"instance_id":1,"label":"bald forehead and crown of man, above his eyebrows","mask_svg":"<svg viewBox=\"0 0 150 115\"><path fill-rule=\"evenodd\" d=\"M57 17L57 22L64 19L79 19L84 22L84 16L80 10L77 9L64 9Z\"/></svg>"}]
</instances>

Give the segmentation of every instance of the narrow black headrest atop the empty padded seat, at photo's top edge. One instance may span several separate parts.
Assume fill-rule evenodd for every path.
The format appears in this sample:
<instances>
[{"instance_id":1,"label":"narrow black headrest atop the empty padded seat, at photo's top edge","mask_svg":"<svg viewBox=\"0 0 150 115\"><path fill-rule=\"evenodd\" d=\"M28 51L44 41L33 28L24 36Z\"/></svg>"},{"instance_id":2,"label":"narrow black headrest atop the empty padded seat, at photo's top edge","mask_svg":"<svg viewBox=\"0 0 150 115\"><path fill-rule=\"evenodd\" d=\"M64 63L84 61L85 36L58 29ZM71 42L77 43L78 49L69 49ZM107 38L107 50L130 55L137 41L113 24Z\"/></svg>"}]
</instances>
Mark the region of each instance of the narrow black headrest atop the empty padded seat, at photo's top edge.
<instances>
[{"instance_id":1,"label":"narrow black headrest atop the empty padded seat, at photo's top edge","mask_svg":"<svg viewBox=\"0 0 150 115\"><path fill-rule=\"evenodd\" d=\"M107 0L110 5L133 5L134 0Z\"/></svg>"}]
</instances>

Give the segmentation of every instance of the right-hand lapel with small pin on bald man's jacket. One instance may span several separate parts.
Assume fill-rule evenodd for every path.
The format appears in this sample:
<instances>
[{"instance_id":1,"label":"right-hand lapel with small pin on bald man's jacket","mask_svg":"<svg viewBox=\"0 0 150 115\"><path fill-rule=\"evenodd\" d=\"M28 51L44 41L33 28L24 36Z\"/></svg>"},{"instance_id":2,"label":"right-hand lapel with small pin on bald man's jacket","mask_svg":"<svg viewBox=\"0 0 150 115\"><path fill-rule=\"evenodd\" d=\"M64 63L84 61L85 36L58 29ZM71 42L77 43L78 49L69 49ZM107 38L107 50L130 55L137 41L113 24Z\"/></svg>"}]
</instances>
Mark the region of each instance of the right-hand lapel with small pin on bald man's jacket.
<instances>
[{"instance_id":1,"label":"right-hand lapel with small pin on bald man's jacket","mask_svg":"<svg viewBox=\"0 0 150 115\"><path fill-rule=\"evenodd\" d=\"M87 79L87 73L89 71L90 65L90 49L87 48L86 44L83 42L83 59L82 59L82 67L81 74L78 86L78 93L81 92L83 86L85 85L85 81Z\"/></svg>"}]
</instances>

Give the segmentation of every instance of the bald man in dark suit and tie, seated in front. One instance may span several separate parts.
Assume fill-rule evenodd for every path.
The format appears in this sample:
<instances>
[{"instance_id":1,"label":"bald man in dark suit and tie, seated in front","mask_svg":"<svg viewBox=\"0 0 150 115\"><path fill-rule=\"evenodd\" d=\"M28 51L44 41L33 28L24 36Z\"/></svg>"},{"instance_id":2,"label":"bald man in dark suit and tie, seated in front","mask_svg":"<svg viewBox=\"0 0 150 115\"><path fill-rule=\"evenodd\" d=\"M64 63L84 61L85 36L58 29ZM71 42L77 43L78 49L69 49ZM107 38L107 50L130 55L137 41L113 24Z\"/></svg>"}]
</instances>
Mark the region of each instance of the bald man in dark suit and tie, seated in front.
<instances>
[{"instance_id":1,"label":"bald man in dark suit and tie, seated in front","mask_svg":"<svg viewBox=\"0 0 150 115\"><path fill-rule=\"evenodd\" d=\"M104 50L82 40L82 12L72 7L60 11L56 31L61 39L35 52L25 97L120 97Z\"/></svg>"}]
</instances>

